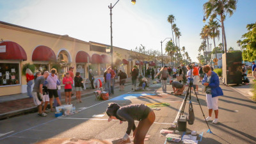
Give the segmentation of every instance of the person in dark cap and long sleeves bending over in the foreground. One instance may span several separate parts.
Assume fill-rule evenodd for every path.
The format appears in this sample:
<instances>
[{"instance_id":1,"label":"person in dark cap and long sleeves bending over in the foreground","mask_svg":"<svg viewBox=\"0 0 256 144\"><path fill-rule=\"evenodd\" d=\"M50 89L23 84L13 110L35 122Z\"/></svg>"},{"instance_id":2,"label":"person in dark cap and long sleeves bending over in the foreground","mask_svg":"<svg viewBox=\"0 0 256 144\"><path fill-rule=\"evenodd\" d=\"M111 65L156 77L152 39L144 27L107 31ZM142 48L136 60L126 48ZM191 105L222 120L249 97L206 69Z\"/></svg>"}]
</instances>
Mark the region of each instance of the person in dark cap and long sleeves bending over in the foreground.
<instances>
[{"instance_id":1,"label":"person in dark cap and long sleeves bending over in the foreground","mask_svg":"<svg viewBox=\"0 0 256 144\"><path fill-rule=\"evenodd\" d=\"M122 138L122 141L129 140L129 135L133 131L133 142L135 144L143 144L145 136L150 126L154 123L156 115L152 109L148 108L145 104L130 104L128 106L120 107L116 103L111 103L107 110L109 116L108 122L111 120L120 120L122 122L128 122L127 131ZM136 127L134 120L138 120L139 124Z\"/></svg>"}]
</instances>

